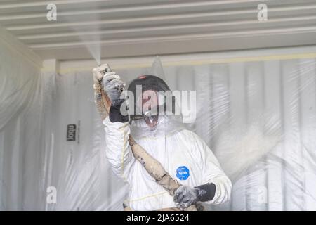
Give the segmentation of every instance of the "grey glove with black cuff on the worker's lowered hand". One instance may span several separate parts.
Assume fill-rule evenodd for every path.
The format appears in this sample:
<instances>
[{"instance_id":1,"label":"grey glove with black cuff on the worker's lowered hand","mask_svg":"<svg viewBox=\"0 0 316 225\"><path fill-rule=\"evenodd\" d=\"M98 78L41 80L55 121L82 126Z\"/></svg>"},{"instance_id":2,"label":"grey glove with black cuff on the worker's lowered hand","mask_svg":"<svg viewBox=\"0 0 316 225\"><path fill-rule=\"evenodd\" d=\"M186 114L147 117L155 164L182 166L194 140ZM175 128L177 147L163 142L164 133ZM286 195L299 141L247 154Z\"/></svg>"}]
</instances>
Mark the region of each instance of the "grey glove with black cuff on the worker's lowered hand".
<instances>
[{"instance_id":1,"label":"grey glove with black cuff on the worker's lowered hand","mask_svg":"<svg viewBox=\"0 0 316 225\"><path fill-rule=\"evenodd\" d=\"M180 186L174 193L173 200L181 210L194 205L197 202L206 202L214 198L216 185L203 184L198 187Z\"/></svg>"}]
</instances>

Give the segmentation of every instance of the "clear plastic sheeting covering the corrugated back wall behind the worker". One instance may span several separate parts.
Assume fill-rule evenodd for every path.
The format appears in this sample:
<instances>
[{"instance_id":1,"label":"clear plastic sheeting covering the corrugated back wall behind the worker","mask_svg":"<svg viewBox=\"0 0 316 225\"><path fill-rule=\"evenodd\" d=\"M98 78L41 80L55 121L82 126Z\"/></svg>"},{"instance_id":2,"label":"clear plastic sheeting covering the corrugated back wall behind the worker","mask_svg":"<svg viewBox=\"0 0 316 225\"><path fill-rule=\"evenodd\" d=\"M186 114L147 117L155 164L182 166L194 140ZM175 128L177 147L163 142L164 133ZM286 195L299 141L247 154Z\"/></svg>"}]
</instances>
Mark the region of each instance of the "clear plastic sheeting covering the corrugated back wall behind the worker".
<instances>
[{"instance_id":1,"label":"clear plastic sheeting covering the corrugated back wall behind the worker","mask_svg":"<svg viewBox=\"0 0 316 225\"><path fill-rule=\"evenodd\" d=\"M187 127L232 180L230 202L209 210L316 210L315 65L315 58L297 58L164 66L172 90L196 91L197 117ZM126 82L149 72L117 70ZM33 166L39 175L22 180L34 189L13 201L17 208L122 210L128 186L105 158L91 76L90 70L43 75L41 157ZM24 167L34 165L30 156L22 160ZM1 174L2 196L7 186ZM47 203L49 186L57 190L55 204ZM38 202L27 203L27 195ZM8 202L3 198L2 209L13 208Z\"/></svg>"}]
</instances>

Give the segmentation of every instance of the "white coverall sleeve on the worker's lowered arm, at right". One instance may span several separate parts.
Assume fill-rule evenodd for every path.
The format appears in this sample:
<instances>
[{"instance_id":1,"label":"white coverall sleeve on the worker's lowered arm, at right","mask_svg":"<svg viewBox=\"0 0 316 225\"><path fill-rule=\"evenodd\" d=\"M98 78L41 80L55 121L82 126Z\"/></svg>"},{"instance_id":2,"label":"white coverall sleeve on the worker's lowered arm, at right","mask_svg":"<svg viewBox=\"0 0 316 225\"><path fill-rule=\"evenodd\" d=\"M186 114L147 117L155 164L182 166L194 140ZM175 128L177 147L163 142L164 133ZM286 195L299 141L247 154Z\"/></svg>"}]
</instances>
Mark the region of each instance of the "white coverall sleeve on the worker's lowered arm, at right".
<instances>
[{"instance_id":1,"label":"white coverall sleeve on the worker's lowered arm, at right","mask_svg":"<svg viewBox=\"0 0 316 225\"><path fill-rule=\"evenodd\" d=\"M230 199L232 182L223 172L215 155L206 143L196 135L197 146L202 160L202 184L213 183L216 185L215 195L206 203L216 205L225 203Z\"/></svg>"}]
</instances>

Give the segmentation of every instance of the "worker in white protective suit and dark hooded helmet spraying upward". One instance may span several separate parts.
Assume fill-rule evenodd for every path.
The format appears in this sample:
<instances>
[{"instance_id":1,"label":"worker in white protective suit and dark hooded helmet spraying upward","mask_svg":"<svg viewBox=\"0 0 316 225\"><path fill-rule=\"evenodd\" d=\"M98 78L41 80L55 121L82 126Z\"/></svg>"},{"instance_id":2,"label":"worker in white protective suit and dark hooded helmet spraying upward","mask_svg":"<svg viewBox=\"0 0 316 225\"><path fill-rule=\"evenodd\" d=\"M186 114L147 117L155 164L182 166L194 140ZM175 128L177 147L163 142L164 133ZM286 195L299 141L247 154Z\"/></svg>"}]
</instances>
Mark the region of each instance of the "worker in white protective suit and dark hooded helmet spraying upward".
<instances>
[{"instance_id":1,"label":"worker in white protective suit and dark hooded helmet spraying upward","mask_svg":"<svg viewBox=\"0 0 316 225\"><path fill-rule=\"evenodd\" d=\"M212 151L199 136L183 127L177 115L166 113L165 97L161 92L170 90L167 84L155 76L143 75L134 79L128 88L135 100L131 103L129 98L129 112L133 111L130 115L122 113L125 100L121 99L120 90L124 85L115 72L105 74L103 88L112 106L103 124L107 159L114 173L130 187L129 207L132 210L176 207L183 210L195 203L218 205L228 201L232 184ZM137 96L139 86L141 92ZM171 111L174 111L175 98L172 99ZM139 110L140 115L136 115ZM133 157L129 134L182 185L174 197L159 186Z\"/></svg>"}]
</instances>

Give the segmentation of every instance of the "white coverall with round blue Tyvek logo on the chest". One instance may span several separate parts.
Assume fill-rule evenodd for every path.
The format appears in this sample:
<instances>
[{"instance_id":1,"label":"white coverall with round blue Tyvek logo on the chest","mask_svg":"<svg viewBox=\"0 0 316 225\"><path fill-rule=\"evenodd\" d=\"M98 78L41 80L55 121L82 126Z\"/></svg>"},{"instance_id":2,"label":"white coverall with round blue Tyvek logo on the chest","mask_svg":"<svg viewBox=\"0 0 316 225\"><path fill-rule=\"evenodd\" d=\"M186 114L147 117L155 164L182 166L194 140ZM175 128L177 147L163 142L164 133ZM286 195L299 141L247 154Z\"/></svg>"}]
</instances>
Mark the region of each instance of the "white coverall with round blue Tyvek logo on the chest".
<instances>
[{"instance_id":1,"label":"white coverall with round blue Tyvek logo on the chest","mask_svg":"<svg viewBox=\"0 0 316 225\"><path fill-rule=\"evenodd\" d=\"M132 210L159 210L176 207L173 197L154 181L134 157L129 146L129 124L110 122L105 125L106 155L115 174L129 183L129 206ZM159 125L158 125L159 126ZM156 158L173 179L187 186L206 183L216 185L213 200L220 204L229 200L232 184L220 168L218 160L202 139L192 131L182 129L170 135L136 139L147 153ZM188 173L181 176L177 169L186 167ZM182 180L179 179L182 178ZM188 175L188 176L187 176Z\"/></svg>"}]
</instances>

